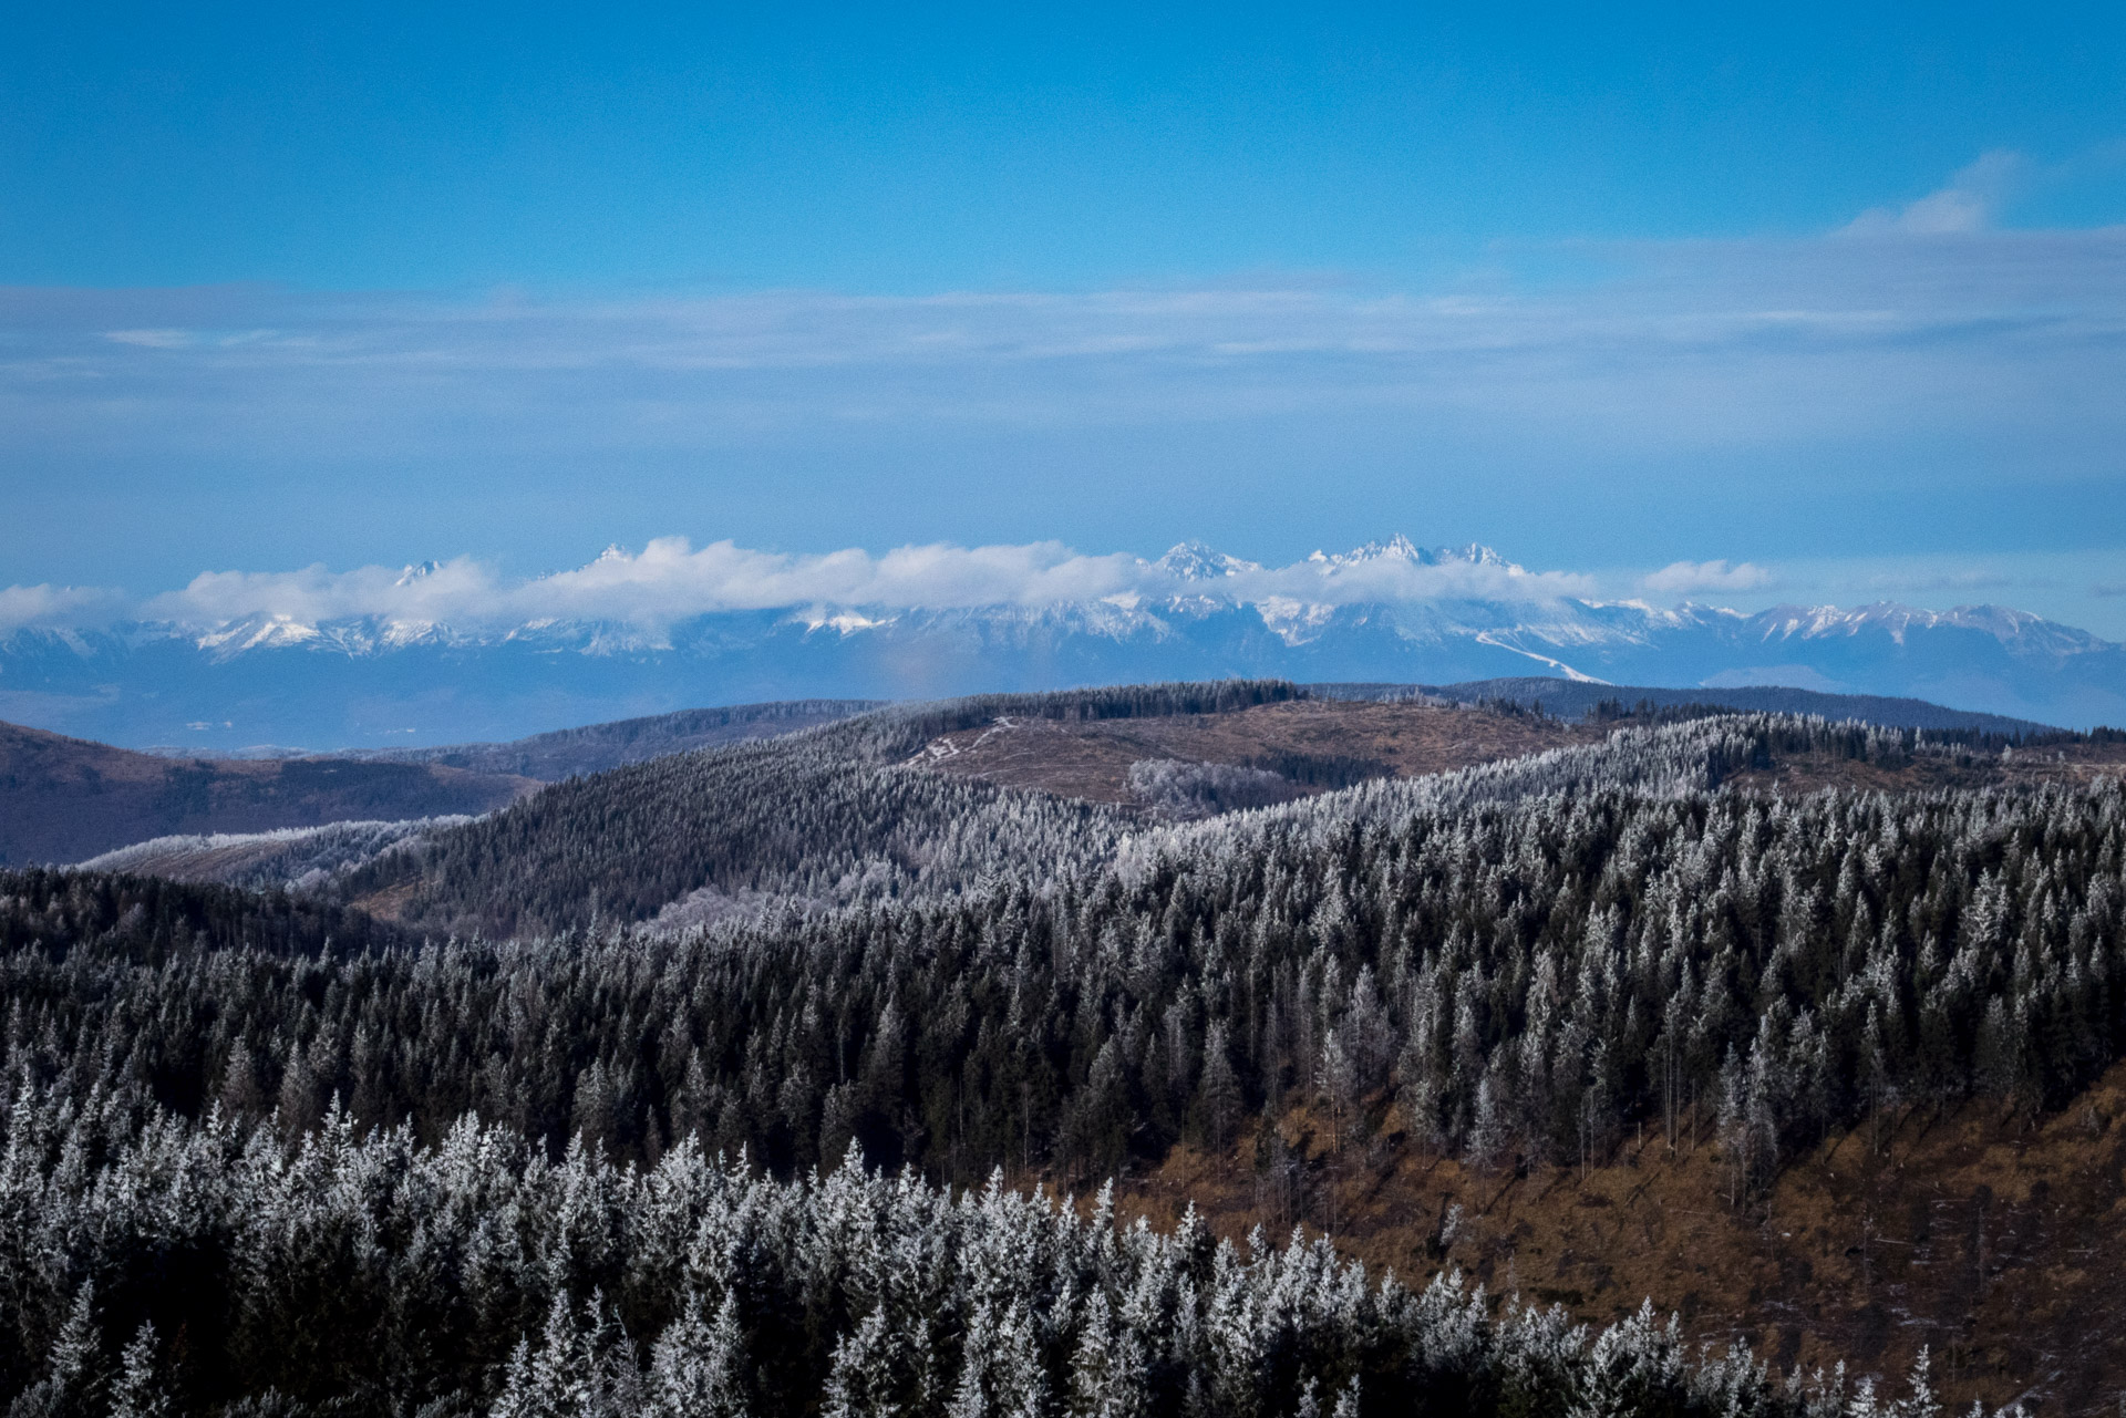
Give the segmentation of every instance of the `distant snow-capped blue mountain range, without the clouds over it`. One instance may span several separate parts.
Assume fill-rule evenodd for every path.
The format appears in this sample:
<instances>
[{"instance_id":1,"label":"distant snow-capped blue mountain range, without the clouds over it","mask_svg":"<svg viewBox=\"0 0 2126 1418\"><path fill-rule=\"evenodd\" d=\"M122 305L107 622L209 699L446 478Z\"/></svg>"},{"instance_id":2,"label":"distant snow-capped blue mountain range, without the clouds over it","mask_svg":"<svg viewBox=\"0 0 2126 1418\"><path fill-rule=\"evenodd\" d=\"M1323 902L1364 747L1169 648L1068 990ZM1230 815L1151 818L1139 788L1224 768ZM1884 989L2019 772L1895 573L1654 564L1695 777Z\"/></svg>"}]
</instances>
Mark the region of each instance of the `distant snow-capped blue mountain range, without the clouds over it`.
<instances>
[{"instance_id":1,"label":"distant snow-capped blue mountain range, without the clouds over it","mask_svg":"<svg viewBox=\"0 0 2126 1418\"><path fill-rule=\"evenodd\" d=\"M610 553L608 553L610 555ZM595 572L593 568L585 568ZM995 604L836 604L457 623L249 608L0 638L0 719L130 746L500 740L570 723L791 697L1273 674L1911 695L2086 727L2126 721L2126 646L1998 606L1601 602L1488 546L1397 536L1263 568L1203 544L1108 589ZM434 565L406 568L419 587Z\"/></svg>"}]
</instances>

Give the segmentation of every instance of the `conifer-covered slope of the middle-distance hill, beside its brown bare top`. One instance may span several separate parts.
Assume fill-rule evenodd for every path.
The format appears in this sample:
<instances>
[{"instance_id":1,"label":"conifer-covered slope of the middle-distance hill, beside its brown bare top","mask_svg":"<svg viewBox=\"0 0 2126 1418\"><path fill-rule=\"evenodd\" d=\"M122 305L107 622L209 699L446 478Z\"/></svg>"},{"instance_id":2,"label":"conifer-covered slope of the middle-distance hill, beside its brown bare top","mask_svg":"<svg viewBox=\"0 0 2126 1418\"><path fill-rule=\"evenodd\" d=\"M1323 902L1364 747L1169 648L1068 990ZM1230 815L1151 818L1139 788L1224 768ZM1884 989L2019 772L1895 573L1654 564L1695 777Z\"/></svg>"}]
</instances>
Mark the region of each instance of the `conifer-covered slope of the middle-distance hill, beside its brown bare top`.
<instances>
[{"instance_id":1,"label":"conifer-covered slope of the middle-distance hill, beside its brown bare top","mask_svg":"<svg viewBox=\"0 0 2126 1418\"><path fill-rule=\"evenodd\" d=\"M825 904L948 889L1029 863L1091 865L1112 850L1118 814L901 761L942 733L999 716L1212 714L1299 693L1231 680L895 706L555 784L510 812L436 833L417 857L381 857L344 891L423 929L510 935L644 921L687 897L714 914L716 897Z\"/></svg>"}]
</instances>

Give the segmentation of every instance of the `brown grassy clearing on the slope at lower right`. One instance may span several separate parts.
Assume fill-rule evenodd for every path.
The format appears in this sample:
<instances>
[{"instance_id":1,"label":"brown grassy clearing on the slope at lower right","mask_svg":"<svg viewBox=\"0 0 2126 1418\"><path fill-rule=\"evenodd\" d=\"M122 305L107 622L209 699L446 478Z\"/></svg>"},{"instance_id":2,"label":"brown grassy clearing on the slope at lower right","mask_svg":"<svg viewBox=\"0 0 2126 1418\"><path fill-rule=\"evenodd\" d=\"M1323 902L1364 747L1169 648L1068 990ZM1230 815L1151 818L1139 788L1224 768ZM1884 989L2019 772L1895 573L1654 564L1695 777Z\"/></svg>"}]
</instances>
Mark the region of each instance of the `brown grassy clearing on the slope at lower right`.
<instances>
[{"instance_id":1,"label":"brown grassy clearing on the slope at lower right","mask_svg":"<svg viewBox=\"0 0 2126 1418\"><path fill-rule=\"evenodd\" d=\"M1233 1239L1303 1225L1405 1282L1458 1267L1592 1322L1650 1297L1692 1339L1745 1341L1782 1369L1845 1361L1901 1382L1930 1346L1952 1409L2113 1414L2126 1392L2122 1118L2126 1065L2047 1118L1911 1108L1824 1140L1767 1195L1737 1199L1705 1122L1673 1150L1648 1129L1586 1169L1484 1174L1393 1131L1331 1148L1329 1118L1293 1110L1282 1148L1256 1135L1216 1157L1178 1148L1118 1182L1116 1208L1165 1227L1193 1199ZM1280 1150L1284 1167L1256 1165Z\"/></svg>"}]
</instances>

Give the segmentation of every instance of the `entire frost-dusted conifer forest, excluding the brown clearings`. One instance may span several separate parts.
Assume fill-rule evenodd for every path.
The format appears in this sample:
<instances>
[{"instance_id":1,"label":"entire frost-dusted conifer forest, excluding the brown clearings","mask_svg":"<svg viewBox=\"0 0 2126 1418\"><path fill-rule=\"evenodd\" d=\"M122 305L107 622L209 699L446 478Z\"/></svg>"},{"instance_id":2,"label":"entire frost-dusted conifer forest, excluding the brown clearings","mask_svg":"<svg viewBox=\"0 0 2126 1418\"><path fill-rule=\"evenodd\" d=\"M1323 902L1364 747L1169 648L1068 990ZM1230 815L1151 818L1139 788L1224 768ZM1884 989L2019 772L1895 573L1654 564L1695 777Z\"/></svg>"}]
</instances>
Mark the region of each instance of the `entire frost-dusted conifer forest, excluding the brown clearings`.
<instances>
[{"instance_id":1,"label":"entire frost-dusted conifer forest, excluding the brown clearings","mask_svg":"<svg viewBox=\"0 0 2126 1418\"><path fill-rule=\"evenodd\" d=\"M298 893L0 876L9 1412L1935 1412L1101 1182L1307 1108L1495 1174L1694 1129L1739 1203L2056 1110L2126 1054L2120 782L1777 797L2013 746L1737 714L1201 821L912 761L1297 693L882 710Z\"/></svg>"}]
</instances>

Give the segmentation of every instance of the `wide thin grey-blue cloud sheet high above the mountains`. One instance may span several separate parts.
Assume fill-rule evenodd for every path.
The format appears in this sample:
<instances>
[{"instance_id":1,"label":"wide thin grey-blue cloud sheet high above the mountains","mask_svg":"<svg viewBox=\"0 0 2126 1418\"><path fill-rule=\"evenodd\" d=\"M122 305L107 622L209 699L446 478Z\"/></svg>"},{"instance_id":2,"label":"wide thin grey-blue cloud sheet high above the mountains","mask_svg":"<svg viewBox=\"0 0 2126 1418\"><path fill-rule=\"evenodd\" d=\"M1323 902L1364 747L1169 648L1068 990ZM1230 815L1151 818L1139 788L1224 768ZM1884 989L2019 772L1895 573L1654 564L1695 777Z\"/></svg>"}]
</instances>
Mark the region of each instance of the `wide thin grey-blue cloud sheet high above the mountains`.
<instances>
[{"instance_id":1,"label":"wide thin grey-blue cloud sheet high above the mountains","mask_svg":"<svg viewBox=\"0 0 2126 1418\"><path fill-rule=\"evenodd\" d=\"M400 470L1265 419L1624 455L2096 446L2126 423L2126 234L1984 230L2015 162L1862 217L1875 240L1584 247L1580 283L1518 281L1505 253L1507 274L1420 291L0 291L0 446Z\"/></svg>"}]
</instances>

